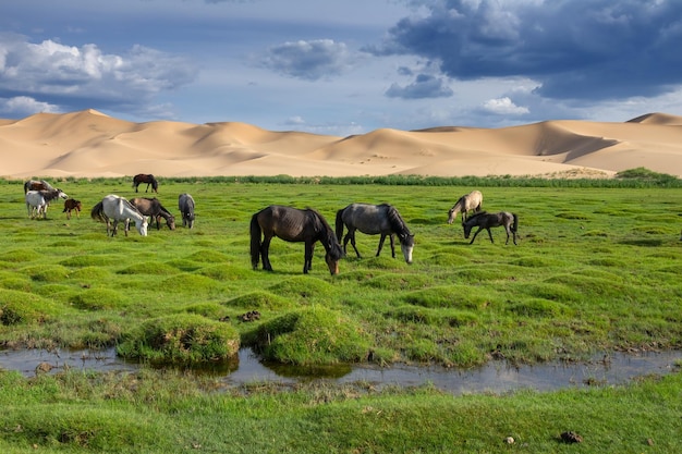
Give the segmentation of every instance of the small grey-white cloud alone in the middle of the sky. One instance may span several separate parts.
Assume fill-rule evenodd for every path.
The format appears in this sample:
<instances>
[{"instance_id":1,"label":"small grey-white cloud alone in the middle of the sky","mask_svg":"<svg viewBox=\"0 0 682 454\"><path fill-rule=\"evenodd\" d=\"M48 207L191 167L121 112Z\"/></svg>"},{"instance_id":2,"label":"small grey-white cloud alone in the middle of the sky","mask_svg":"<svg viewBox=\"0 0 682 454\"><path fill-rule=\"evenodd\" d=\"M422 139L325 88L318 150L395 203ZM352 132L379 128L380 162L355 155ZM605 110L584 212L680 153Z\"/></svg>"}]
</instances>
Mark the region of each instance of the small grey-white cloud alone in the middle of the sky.
<instances>
[{"instance_id":1,"label":"small grey-white cloud alone in the middle of the sky","mask_svg":"<svg viewBox=\"0 0 682 454\"><path fill-rule=\"evenodd\" d=\"M260 64L291 77L317 81L343 74L357 58L333 39L299 40L270 47Z\"/></svg>"}]
</instances>

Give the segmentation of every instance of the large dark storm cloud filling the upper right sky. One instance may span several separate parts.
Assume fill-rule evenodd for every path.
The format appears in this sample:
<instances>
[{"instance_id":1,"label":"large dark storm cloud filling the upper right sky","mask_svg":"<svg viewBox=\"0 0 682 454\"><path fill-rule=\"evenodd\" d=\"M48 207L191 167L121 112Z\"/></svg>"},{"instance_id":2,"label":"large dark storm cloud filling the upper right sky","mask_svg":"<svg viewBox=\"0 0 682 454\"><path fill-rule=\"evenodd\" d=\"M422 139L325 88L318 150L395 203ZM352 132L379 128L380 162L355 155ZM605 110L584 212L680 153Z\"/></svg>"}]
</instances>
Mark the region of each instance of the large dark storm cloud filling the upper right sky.
<instances>
[{"instance_id":1,"label":"large dark storm cloud filling the upper right sky","mask_svg":"<svg viewBox=\"0 0 682 454\"><path fill-rule=\"evenodd\" d=\"M654 96L682 83L682 1L413 1L375 54L415 54L458 79L526 76L538 94Z\"/></svg>"}]
</instances>

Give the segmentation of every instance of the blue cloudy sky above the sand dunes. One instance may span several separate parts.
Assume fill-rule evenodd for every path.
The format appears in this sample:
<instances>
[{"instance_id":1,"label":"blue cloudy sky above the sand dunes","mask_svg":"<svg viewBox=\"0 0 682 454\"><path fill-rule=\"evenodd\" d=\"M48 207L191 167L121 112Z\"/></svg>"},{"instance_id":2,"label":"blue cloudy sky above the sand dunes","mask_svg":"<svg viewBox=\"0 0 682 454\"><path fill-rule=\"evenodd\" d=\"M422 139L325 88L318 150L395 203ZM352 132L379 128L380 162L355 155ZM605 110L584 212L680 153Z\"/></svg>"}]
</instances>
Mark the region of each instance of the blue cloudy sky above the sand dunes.
<instances>
[{"instance_id":1,"label":"blue cloudy sky above the sand dunes","mask_svg":"<svg viewBox=\"0 0 682 454\"><path fill-rule=\"evenodd\" d=\"M681 0L0 2L0 118L348 136L682 115Z\"/></svg>"}]
</instances>

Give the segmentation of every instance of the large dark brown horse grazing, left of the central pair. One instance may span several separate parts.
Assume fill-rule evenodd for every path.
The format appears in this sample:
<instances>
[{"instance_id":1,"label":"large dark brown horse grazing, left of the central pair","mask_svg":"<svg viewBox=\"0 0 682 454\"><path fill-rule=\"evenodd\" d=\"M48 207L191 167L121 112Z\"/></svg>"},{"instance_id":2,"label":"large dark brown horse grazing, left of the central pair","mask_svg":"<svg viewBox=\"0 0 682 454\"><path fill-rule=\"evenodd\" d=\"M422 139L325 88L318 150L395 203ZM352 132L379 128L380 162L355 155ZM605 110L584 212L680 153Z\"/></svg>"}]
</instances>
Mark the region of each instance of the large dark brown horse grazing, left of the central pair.
<instances>
[{"instance_id":1,"label":"large dark brown horse grazing, left of the central pair","mask_svg":"<svg viewBox=\"0 0 682 454\"><path fill-rule=\"evenodd\" d=\"M272 271L269 249L275 236L292 243L305 242L304 274L313 269L313 253L315 244L319 241L327 251L325 261L329 267L329 272L331 275L339 273L339 260L343 257L343 250L333 230L319 212L310 208L301 210L270 205L252 216L251 263L254 270L258 269L258 261L263 257L263 269Z\"/></svg>"}]
</instances>

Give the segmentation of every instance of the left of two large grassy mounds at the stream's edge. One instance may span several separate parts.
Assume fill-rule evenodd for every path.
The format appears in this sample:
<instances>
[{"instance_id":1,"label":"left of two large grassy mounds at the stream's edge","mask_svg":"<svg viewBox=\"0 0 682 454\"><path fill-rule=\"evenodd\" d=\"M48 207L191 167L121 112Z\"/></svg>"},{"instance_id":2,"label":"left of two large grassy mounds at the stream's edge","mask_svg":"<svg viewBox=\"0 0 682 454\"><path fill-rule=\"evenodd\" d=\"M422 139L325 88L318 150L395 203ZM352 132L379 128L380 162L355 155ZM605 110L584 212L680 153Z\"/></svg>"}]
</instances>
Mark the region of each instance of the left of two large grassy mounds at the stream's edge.
<instances>
[{"instance_id":1,"label":"left of two large grassy mounds at the stream's edge","mask_svg":"<svg viewBox=\"0 0 682 454\"><path fill-rule=\"evenodd\" d=\"M232 326L179 314L145 321L124 336L117 353L150 363L198 364L229 359L239 347L240 336Z\"/></svg>"}]
</instances>

